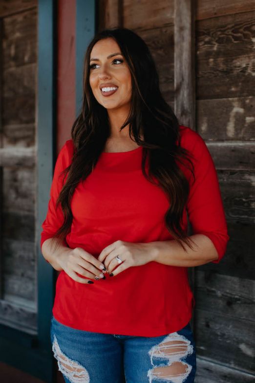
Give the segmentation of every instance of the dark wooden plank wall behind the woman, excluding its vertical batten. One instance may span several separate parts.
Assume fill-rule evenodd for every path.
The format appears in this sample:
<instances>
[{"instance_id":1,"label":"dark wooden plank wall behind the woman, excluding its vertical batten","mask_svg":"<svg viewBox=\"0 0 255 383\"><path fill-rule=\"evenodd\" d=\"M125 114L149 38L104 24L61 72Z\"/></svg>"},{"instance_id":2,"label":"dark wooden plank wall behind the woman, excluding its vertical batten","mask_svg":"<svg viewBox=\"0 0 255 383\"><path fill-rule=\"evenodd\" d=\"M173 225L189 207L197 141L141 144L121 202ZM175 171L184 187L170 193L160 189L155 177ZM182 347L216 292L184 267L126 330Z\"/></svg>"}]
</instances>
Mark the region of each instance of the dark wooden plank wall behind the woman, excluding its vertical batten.
<instances>
[{"instance_id":1,"label":"dark wooden plank wall behind the woman, excluding its vertical batten","mask_svg":"<svg viewBox=\"0 0 255 383\"><path fill-rule=\"evenodd\" d=\"M195 130L216 165L231 237L218 265L195 268L195 382L253 382L255 1L197 0L193 7ZM174 0L100 0L98 29L118 25L147 42L173 107Z\"/></svg>"}]
</instances>

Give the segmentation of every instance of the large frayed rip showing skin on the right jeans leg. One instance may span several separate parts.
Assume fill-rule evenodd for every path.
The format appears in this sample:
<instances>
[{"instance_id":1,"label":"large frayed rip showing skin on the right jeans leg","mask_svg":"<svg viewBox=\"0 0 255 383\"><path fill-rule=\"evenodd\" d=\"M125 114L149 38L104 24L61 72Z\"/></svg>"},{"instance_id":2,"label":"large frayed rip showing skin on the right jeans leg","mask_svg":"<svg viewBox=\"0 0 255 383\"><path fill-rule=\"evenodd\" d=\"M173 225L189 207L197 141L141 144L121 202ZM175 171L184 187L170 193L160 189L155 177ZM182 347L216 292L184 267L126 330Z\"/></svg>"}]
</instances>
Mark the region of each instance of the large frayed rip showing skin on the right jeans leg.
<instances>
[{"instance_id":1,"label":"large frayed rip showing skin on the right jeans leg","mask_svg":"<svg viewBox=\"0 0 255 383\"><path fill-rule=\"evenodd\" d=\"M182 383L191 373L192 366L181 358L191 355L193 346L189 339L178 333L169 334L161 343L149 350L151 364L154 368L148 371L149 383L153 379L164 382ZM155 366L153 358L167 359L167 365Z\"/></svg>"}]
</instances>

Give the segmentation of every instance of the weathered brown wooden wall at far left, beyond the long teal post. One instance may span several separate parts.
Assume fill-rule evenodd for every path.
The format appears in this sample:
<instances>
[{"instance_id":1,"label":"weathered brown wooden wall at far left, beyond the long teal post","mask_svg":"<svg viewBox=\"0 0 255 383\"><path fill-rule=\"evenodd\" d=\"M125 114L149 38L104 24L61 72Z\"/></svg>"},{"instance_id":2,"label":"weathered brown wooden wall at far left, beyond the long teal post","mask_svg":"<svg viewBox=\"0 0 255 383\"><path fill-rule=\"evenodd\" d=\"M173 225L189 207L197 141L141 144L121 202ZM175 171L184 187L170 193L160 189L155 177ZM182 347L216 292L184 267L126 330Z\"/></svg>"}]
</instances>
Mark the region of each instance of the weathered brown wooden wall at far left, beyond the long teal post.
<instances>
[{"instance_id":1,"label":"weathered brown wooden wall at far left, beyond the long teal post","mask_svg":"<svg viewBox=\"0 0 255 383\"><path fill-rule=\"evenodd\" d=\"M1 1L0 323L37 330L37 1Z\"/></svg>"}]
</instances>

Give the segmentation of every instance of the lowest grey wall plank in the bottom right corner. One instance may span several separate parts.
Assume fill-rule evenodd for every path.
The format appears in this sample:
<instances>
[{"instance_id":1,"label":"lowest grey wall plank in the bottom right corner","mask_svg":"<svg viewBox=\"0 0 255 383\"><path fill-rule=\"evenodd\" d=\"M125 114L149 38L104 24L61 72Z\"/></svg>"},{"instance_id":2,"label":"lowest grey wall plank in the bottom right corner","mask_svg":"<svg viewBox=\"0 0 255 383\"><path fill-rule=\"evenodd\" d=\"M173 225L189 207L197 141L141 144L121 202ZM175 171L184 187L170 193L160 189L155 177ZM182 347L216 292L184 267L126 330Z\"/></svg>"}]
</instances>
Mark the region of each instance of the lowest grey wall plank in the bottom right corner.
<instances>
[{"instance_id":1,"label":"lowest grey wall plank in the bottom right corner","mask_svg":"<svg viewBox=\"0 0 255 383\"><path fill-rule=\"evenodd\" d=\"M195 383L253 383L254 374L197 357Z\"/></svg>"}]
</instances>

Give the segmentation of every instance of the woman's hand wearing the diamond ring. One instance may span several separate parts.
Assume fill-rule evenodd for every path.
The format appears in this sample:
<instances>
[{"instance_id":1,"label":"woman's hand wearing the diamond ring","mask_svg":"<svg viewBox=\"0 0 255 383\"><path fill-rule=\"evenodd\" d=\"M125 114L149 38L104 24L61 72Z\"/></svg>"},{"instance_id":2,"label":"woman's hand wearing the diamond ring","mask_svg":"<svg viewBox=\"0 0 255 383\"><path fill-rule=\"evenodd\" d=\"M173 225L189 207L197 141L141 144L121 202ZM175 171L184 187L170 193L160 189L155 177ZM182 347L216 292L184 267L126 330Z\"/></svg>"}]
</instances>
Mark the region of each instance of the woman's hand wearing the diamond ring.
<instances>
[{"instance_id":1,"label":"woman's hand wearing the diamond ring","mask_svg":"<svg viewBox=\"0 0 255 383\"><path fill-rule=\"evenodd\" d=\"M116 259L117 255L122 260L121 264ZM153 248L150 243L132 243L118 240L106 246L101 251L98 260L105 264L107 271L113 276L129 267L142 266L153 261ZM114 270L113 273L112 270Z\"/></svg>"}]
</instances>

